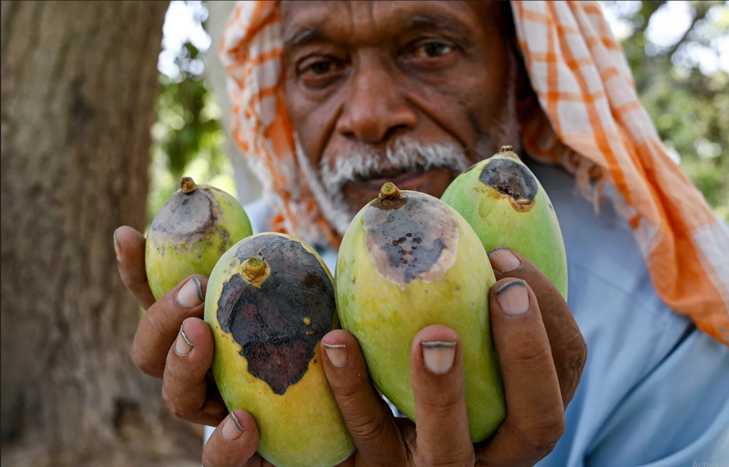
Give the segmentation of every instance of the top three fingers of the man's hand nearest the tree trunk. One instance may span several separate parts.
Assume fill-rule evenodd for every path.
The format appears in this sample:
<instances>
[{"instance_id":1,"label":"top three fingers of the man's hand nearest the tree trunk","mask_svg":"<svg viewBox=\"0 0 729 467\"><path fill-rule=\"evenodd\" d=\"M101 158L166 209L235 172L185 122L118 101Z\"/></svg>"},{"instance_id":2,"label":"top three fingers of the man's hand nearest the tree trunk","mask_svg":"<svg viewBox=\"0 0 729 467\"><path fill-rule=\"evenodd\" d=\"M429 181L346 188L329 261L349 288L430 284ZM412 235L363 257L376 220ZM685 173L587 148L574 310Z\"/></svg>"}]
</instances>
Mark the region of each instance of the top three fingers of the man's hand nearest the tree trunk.
<instances>
[{"instance_id":1,"label":"top three fingers of the man's hand nearest the tree trunk","mask_svg":"<svg viewBox=\"0 0 729 467\"><path fill-rule=\"evenodd\" d=\"M210 372L213 334L202 320L208 279L185 278L155 302L144 269L144 235L120 227L114 232L114 249L122 282L147 309L132 343L134 363L163 378L162 397L174 415L218 425L227 409Z\"/></svg>"}]
</instances>

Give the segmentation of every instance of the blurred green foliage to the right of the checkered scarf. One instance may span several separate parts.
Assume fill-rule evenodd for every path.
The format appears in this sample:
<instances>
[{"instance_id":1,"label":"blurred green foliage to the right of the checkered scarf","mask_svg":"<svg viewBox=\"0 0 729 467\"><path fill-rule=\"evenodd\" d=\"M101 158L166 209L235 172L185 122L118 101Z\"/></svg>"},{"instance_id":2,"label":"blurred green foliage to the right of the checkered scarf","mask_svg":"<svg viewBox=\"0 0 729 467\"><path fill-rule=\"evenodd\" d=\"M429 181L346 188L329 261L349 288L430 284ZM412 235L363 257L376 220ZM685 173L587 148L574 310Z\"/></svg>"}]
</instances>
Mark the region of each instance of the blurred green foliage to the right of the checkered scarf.
<instances>
[{"instance_id":1,"label":"blurred green foliage to the right of the checkered scarf","mask_svg":"<svg viewBox=\"0 0 729 467\"><path fill-rule=\"evenodd\" d=\"M729 74L719 66L712 69L720 61L717 44L729 32L729 7L726 1L687 5L690 28L666 47L652 44L645 34L655 13L670 6L665 1L604 2L619 21L632 27L621 43L640 101L660 138L669 151L680 154L682 170L714 211L729 221Z\"/></svg>"}]
</instances>

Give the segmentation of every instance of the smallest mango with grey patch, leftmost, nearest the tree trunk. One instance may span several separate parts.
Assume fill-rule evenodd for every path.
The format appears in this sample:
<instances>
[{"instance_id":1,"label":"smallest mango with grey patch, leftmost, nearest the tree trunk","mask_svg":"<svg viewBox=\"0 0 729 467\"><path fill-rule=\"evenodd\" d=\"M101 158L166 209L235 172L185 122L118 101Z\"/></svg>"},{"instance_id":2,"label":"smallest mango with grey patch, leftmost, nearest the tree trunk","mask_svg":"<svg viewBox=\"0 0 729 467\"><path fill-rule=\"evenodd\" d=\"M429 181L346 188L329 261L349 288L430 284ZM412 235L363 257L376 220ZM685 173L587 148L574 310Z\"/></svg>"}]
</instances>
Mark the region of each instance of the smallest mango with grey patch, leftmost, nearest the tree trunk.
<instances>
[{"instance_id":1,"label":"smallest mango with grey patch, leftmost, nearest the tree trunk","mask_svg":"<svg viewBox=\"0 0 729 467\"><path fill-rule=\"evenodd\" d=\"M210 275L220 256L251 235L241 203L226 192L180 180L147 233L144 265L155 299L192 274Z\"/></svg>"}]
</instances>

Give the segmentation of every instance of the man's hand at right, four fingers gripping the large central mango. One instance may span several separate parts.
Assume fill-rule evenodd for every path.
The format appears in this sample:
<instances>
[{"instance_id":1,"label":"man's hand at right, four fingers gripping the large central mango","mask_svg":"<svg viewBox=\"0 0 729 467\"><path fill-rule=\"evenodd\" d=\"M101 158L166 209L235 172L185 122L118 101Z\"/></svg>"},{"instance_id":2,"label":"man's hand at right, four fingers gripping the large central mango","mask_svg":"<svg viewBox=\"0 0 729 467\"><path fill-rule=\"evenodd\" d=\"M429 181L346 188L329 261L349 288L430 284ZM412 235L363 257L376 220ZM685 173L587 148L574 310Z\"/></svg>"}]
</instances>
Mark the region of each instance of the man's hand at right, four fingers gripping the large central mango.
<instances>
[{"instance_id":1,"label":"man's hand at right, four fingers gripping the large central mango","mask_svg":"<svg viewBox=\"0 0 729 467\"><path fill-rule=\"evenodd\" d=\"M357 466L531 466L555 446L587 359L585 340L561 294L534 264L505 248L489 259L499 279L489 302L506 419L490 439L471 444L461 341L452 329L429 326L413 340L416 424L392 417L354 336L332 331L322 339L329 351L324 369L354 438Z\"/></svg>"}]
</instances>

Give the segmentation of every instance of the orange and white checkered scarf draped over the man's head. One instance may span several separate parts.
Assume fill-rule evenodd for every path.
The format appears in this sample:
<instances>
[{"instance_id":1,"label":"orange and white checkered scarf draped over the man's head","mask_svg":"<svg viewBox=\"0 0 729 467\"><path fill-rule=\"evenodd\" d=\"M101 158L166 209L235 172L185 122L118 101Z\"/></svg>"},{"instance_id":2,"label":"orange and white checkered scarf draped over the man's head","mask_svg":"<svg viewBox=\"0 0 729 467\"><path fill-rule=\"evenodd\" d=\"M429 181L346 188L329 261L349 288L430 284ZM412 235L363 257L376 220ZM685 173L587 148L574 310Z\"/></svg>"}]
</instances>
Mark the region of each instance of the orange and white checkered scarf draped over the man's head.
<instances>
[{"instance_id":1,"label":"orange and white checkered scarf draped over the man's head","mask_svg":"<svg viewBox=\"0 0 729 467\"><path fill-rule=\"evenodd\" d=\"M729 345L729 231L668 157L601 10L593 1L511 6L538 98L524 149L572 173L596 208L610 184L660 298ZM281 47L278 1L238 1L219 45L233 137L277 211L271 228L338 247L299 175Z\"/></svg>"}]
</instances>

